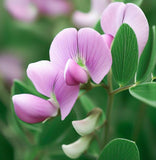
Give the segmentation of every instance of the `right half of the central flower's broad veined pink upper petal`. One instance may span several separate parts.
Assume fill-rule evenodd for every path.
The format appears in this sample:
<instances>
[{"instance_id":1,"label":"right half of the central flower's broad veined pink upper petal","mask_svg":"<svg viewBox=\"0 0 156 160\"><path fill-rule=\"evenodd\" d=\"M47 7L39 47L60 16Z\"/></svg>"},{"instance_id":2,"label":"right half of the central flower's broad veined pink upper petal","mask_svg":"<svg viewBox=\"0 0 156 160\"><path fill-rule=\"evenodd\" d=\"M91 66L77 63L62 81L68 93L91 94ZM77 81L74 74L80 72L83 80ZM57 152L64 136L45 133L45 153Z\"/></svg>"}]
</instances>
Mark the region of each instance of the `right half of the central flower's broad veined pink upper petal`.
<instances>
[{"instance_id":1,"label":"right half of the central flower's broad veined pink upper petal","mask_svg":"<svg viewBox=\"0 0 156 160\"><path fill-rule=\"evenodd\" d=\"M112 64L107 43L95 30L84 28L78 32L78 47L79 57L85 61L91 78L95 83L100 83Z\"/></svg>"}]
</instances>

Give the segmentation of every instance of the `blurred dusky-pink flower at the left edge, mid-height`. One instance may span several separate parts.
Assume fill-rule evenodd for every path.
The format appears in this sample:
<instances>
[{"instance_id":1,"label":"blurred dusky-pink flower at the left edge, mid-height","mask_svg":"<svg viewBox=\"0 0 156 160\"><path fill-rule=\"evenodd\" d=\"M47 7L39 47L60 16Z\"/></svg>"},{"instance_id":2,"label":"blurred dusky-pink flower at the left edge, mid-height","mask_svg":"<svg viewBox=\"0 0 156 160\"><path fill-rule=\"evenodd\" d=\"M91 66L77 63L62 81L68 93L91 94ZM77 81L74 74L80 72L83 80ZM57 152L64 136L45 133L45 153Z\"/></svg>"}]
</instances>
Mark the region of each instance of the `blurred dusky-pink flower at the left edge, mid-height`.
<instances>
[{"instance_id":1,"label":"blurred dusky-pink flower at the left edge, mid-height","mask_svg":"<svg viewBox=\"0 0 156 160\"><path fill-rule=\"evenodd\" d=\"M18 57L12 54L0 55L0 77L7 84L12 84L14 79L22 78L22 64Z\"/></svg>"}]
</instances>

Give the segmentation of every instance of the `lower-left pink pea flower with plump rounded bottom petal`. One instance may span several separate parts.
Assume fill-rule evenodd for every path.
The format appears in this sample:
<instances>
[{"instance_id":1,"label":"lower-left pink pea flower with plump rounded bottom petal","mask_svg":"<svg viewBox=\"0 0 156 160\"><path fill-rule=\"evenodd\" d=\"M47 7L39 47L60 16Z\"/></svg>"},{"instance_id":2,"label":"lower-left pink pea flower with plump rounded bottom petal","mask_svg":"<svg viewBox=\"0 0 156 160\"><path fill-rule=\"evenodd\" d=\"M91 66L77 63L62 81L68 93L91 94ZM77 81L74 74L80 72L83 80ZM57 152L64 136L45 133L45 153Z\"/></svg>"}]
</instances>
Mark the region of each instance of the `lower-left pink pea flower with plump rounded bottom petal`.
<instances>
[{"instance_id":1,"label":"lower-left pink pea flower with plump rounded bottom petal","mask_svg":"<svg viewBox=\"0 0 156 160\"><path fill-rule=\"evenodd\" d=\"M77 99L79 88L67 86L63 73L49 61L29 64L27 75L37 91L49 99L31 94L14 95L12 99L17 116L27 123L38 123L56 116L60 108L64 119Z\"/></svg>"}]
</instances>

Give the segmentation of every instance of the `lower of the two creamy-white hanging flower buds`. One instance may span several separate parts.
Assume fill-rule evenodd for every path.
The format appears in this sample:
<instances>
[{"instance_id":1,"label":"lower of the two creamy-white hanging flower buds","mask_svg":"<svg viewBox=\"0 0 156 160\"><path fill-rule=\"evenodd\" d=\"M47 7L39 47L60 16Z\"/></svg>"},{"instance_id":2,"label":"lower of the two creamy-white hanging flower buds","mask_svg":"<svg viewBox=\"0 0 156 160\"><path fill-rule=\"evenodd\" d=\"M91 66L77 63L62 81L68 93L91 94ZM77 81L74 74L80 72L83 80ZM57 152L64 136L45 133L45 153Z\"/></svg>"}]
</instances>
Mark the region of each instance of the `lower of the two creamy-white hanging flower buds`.
<instances>
[{"instance_id":1,"label":"lower of the two creamy-white hanging flower buds","mask_svg":"<svg viewBox=\"0 0 156 160\"><path fill-rule=\"evenodd\" d=\"M68 145L63 144L62 149L68 157L75 159L81 156L81 154L83 154L88 149L91 140L92 135L84 136L74 143Z\"/></svg>"}]
</instances>

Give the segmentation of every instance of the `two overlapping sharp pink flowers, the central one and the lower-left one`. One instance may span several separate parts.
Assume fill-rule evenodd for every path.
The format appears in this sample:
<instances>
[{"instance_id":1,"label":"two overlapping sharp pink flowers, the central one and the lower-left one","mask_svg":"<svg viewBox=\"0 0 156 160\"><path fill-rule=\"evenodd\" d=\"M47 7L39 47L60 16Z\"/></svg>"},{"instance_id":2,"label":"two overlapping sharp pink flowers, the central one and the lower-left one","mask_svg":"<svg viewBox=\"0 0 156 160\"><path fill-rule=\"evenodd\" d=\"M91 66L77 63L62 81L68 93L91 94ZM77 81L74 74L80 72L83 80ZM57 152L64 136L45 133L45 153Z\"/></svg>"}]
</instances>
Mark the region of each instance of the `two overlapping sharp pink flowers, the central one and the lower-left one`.
<instances>
[{"instance_id":1,"label":"two overlapping sharp pink flowers, the central one and the lower-left one","mask_svg":"<svg viewBox=\"0 0 156 160\"><path fill-rule=\"evenodd\" d=\"M107 43L90 28L79 31L68 28L58 33L50 47L50 59L51 62L32 63L27 69L27 75L37 91L49 97L49 100L39 97L34 100L34 96L29 94L13 97L16 114L28 123L54 116L58 108L63 120L78 97L80 83L86 83L89 77L95 83L100 83L112 64ZM44 101L42 105L38 104L40 100Z\"/></svg>"}]
</instances>

